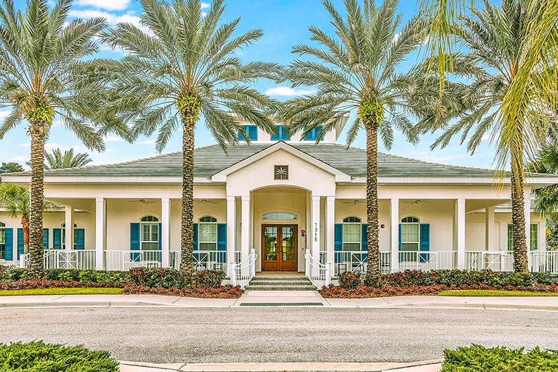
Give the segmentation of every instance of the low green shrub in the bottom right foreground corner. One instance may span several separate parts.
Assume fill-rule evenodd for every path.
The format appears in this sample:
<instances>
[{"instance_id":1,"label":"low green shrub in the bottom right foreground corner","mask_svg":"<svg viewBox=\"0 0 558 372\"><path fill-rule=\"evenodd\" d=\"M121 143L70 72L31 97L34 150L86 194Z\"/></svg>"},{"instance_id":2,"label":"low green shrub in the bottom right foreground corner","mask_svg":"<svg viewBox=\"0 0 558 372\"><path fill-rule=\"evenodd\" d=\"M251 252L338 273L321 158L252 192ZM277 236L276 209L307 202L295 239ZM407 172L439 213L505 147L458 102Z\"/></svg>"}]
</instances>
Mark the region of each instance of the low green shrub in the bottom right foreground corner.
<instances>
[{"instance_id":1,"label":"low green shrub in the bottom right foreground corner","mask_svg":"<svg viewBox=\"0 0 558 372\"><path fill-rule=\"evenodd\" d=\"M558 352L541 351L538 347L526 353L523 348L488 349L473 344L456 350L447 349L444 356L441 372L558 371Z\"/></svg>"}]
</instances>

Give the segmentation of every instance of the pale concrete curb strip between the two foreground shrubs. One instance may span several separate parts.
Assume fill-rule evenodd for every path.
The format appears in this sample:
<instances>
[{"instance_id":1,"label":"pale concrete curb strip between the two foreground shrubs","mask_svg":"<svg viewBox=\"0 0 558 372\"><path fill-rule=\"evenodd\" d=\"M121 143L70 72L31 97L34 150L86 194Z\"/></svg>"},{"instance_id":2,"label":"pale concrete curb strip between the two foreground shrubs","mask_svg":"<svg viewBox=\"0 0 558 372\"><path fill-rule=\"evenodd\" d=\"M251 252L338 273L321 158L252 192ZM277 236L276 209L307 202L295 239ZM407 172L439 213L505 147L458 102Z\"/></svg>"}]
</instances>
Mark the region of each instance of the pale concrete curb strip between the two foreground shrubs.
<instances>
[{"instance_id":1,"label":"pale concrete curb strip between the two foreground shrubs","mask_svg":"<svg viewBox=\"0 0 558 372\"><path fill-rule=\"evenodd\" d=\"M357 372L438 372L441 361L414 363L196 363L147 364L121 361L120 372L297 372L297 371L357 371Z\"/></svg>"}]
</instances>

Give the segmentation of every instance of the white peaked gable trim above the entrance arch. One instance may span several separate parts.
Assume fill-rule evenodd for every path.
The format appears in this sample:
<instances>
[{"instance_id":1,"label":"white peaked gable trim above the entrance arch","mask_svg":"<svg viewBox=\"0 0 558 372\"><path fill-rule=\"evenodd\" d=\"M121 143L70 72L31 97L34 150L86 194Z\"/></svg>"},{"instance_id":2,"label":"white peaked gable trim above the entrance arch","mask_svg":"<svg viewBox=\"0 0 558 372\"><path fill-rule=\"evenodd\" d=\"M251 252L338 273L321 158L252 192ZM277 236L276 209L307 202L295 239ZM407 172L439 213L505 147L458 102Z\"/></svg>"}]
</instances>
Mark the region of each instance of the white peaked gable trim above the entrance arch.
<instances>
[{"instance_id":1,"label":"white peaked gable trim above the entrance arch","mask_svg":"<svg viewBox=\"0 0 558 372\"><path fill-rule=\"evenodd\" d=\"M277 152L279 150L284 150L285 152L288 152L291 155L294 155L294 156L298 157L299 159L304 160L305 162L307 162L309 164L312 164L319 169L323 169L324 171L326 171L330 174L333 174L334 176L336 176L336 182L350 182L351 181L351 177L348 174L345 174L345 173L341 172L340 170L331 167L331 165L328 165L324 162L321 162L320 160L316 159L315 157L311 157L307 153L302 152L302 151L298 150L297 148L294 148L291 145L288 145L287 143L284 143L284 142L279 142L275 145L272 145L272 146L266 148L265 150L261 150L260 152L254 154L254 155L251 155L250 157L247 157L246 159L242 160L241 162L237 162L237 164L234 164L234 165L228 167L227 169L223 169L221 172L214 174L211 177L211 181L213 181L213 182L225 182L225 181L227 181L227 175L232 174L234 172L237 172L237 170L242 169L244 167L247 167L249 164L253 164L254 162L257 162L258 160L263 159L263 157L271 155L271 154L273 154L273 152Z\"/></svg>"}]
</instances>

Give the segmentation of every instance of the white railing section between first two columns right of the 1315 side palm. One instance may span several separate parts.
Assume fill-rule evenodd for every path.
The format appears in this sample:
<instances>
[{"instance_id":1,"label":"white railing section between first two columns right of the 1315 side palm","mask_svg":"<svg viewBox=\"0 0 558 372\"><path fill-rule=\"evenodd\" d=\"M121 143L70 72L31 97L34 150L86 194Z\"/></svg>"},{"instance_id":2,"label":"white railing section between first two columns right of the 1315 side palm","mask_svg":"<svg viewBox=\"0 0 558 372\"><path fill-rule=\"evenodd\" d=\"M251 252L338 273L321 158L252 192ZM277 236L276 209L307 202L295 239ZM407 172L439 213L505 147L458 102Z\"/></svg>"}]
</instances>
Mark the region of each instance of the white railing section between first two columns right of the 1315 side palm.
<instances>
[{"instance_id":1,"label":"white railing section between first two columns right of the 1315 side palm","mask_svg":"<svg viewBox=\"0 0 558 372\"><path fill-rule=\"evenodd\" d=\"M400 251L399 270L453 269L457 265L457 252L453 251Z\"/></svg>"}]
</instances>

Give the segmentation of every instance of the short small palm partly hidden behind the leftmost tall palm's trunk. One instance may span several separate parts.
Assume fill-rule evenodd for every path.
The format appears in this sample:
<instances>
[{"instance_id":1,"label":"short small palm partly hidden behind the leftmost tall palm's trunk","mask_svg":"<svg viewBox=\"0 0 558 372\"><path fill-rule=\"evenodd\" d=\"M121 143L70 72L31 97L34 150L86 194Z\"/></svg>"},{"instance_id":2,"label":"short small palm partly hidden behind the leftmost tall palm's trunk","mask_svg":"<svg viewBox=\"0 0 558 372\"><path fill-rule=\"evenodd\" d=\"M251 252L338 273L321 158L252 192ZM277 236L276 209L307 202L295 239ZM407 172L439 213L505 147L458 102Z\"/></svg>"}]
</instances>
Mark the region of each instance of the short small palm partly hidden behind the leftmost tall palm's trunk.
<instances>
[{"instance_id":1,"label":"short small palm partly hidden behind the leftmost tall palm's trunk","mask_svg":"<svg viewBox=\"0 0 558 372\"><path fill-rule=\"evenodd\" d=\"M21 215L21 227L23 228L23 249L29 253L29 191L26 188L11 185L0 185L0 206L6 210L9 217L17 218ZM44 202L42 211L55 210L58 206L53 203Z\"/></svg>"}]
</instances>

